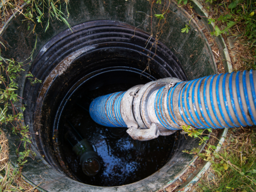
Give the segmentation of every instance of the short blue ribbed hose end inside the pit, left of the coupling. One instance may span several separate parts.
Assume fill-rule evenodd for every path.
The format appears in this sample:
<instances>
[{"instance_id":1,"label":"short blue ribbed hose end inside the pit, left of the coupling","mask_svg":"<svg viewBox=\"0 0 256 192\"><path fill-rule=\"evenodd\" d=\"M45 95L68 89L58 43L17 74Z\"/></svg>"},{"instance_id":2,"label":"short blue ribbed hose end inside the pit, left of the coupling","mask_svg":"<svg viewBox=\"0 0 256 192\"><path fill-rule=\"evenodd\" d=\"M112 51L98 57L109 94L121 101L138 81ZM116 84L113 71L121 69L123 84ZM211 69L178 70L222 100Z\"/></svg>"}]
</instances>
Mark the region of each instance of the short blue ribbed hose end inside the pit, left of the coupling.
<instances>
[{"instance_id":1,"label":"short blue ribbed hose end inside the pit, left of the coupling","mask_svg":"<svg viewBox=\"0 0 256 192\"><path fill-rule=\"evenodd\" d=\"M97 97L90 104L91 118L107 127L127 127L120 113L120 104L125 92L115 92Z\"/></svg>"}]
</instances>

